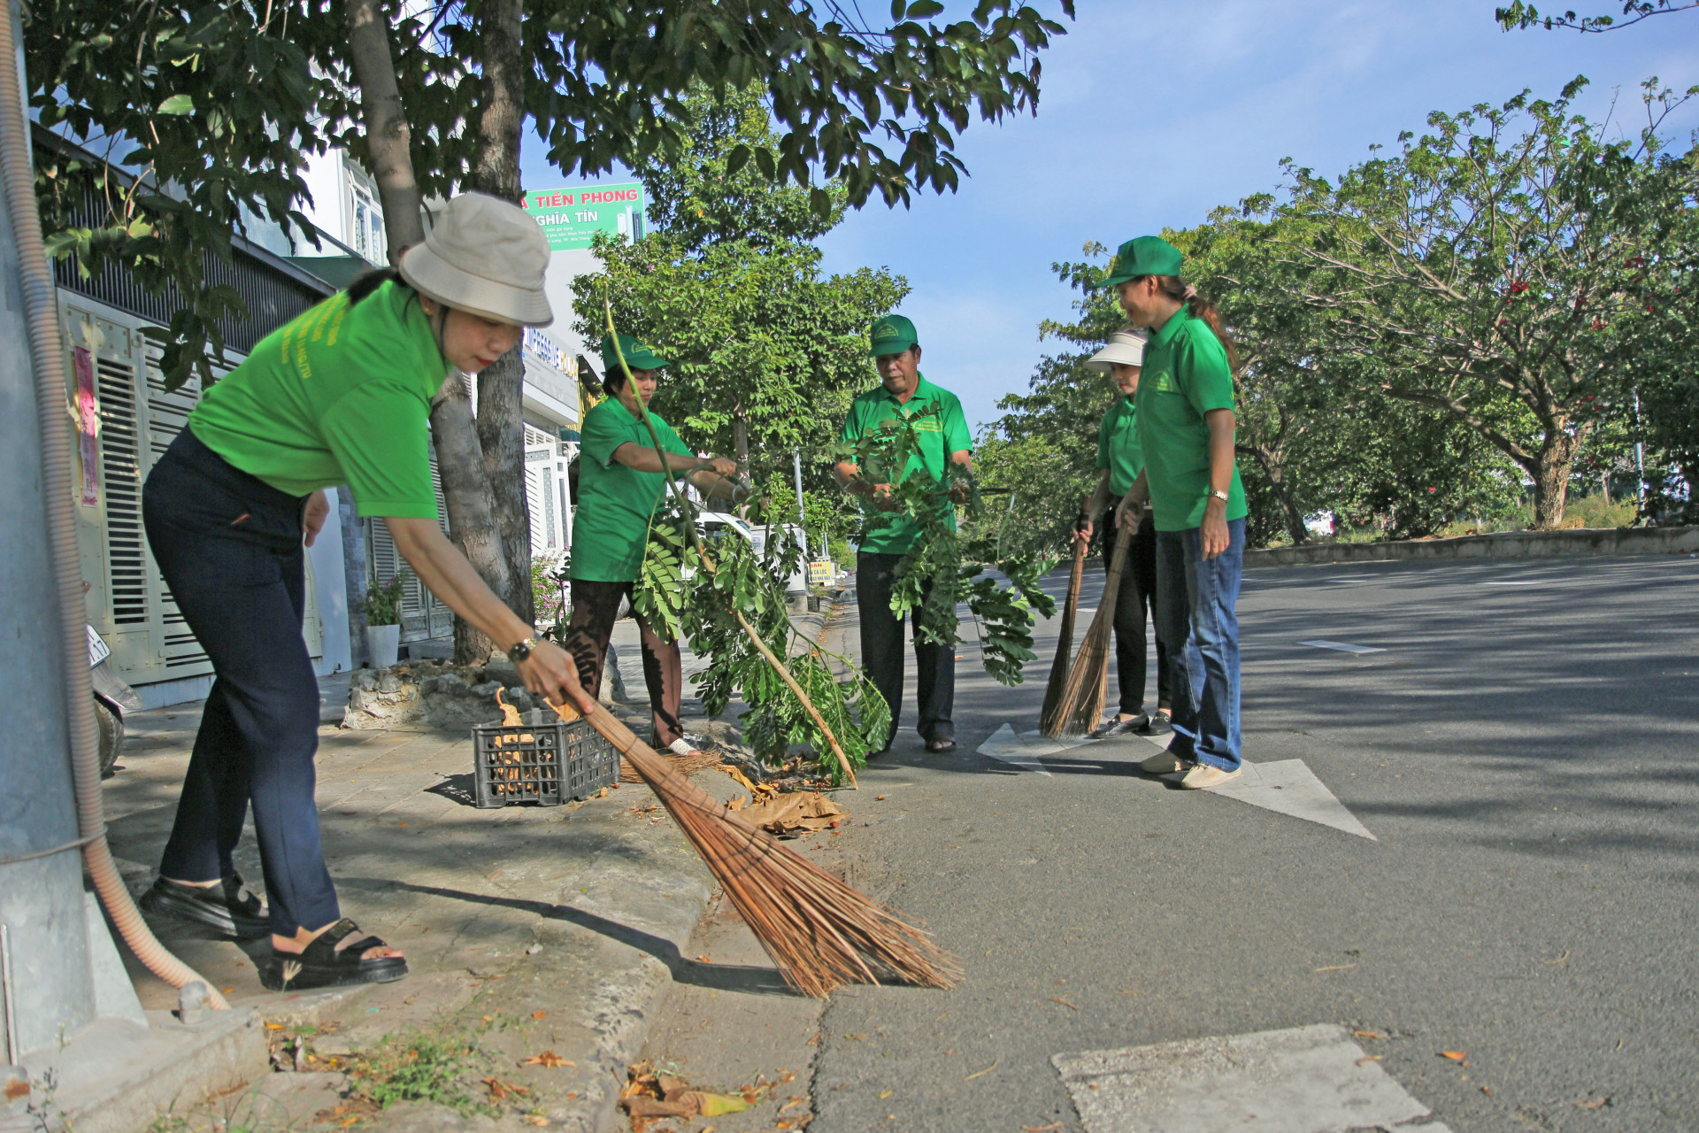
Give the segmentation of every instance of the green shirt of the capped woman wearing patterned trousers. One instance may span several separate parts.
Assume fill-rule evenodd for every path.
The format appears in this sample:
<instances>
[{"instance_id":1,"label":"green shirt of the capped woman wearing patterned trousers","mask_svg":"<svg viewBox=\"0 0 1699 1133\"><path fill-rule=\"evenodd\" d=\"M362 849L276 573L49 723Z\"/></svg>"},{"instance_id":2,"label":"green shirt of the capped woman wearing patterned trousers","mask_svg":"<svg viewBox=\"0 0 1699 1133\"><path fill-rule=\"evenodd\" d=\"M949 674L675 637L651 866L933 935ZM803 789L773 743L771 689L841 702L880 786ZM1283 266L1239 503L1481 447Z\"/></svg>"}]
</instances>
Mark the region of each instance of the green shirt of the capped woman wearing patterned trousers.
<instances>
[{"instance_id":1,"label":"green shirt of the capped woman wearing patterned trousers","mask_svg":"<svg viewBox=\"0 0 1699 1133\"><path fill-rule=\"evenodd\" d=\"M693 455L673 426L654 411L654 431L666 452ZM647 426L618 397L584 414L578 462L578 511L573 518L573 578L584 583L635 583L649 542L649 518L666 501L666 479L613 459L630 442L654 448ZM686 476L678 472L678 476Z\"/></svg>"}]
</instances>

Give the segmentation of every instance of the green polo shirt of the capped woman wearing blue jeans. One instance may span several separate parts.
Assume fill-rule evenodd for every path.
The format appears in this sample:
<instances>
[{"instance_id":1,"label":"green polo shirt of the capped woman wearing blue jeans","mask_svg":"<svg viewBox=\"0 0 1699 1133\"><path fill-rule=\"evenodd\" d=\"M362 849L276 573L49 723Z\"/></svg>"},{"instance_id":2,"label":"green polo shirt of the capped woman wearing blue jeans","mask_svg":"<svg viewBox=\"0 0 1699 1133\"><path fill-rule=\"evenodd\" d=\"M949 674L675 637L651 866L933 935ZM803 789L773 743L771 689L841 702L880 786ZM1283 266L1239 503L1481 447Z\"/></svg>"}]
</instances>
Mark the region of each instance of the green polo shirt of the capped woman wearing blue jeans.
<instances>
[{"instance_id":1,"label":"green polo shirt of the capped woman wearing blue jeans","mask_svg":"<svg viewBox=\"0 0 1699 1133\"><path fill-rule=\"evenodd\" d=\"M1145 343L1135 406L1157 530L1201 527L1210 501L1210 426L1203 414L1233 408L1233 374L1227 347L1186 307ZM1237 464L1227 496L1227 518L1242 520L1245 486Z\"/></svg>"}]
</instances>

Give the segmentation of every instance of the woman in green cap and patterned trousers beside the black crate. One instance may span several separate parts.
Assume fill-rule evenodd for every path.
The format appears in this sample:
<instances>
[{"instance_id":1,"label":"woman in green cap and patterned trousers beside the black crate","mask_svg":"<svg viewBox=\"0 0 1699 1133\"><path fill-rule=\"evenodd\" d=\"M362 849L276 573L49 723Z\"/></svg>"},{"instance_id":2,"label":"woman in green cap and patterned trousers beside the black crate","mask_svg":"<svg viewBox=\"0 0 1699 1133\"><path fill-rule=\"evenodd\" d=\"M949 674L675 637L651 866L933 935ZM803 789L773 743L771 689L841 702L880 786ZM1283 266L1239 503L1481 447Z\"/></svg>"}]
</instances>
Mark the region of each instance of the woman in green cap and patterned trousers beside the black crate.
<instances>
[{"instance_id":1,"label":"woman in green cap and patterned trousers beside the black crate","mask_svg":"<svg viewBox=\"0 0 1699 1133\"><path fill-rule=\"evenodd\" d=\"M732 476L737 464L724 457L698 457L678 438L673 426L649 411L661 437L661 448L642 423L644 406L654 397L666 358L630 335L601 340L601 389L608 399L584 414L583 455L578 472L578 521L573 525L573 618L566 649L578 661L578 679L596 695L608 639L618 620L620 603L632 595L649 544L649 523L666 503L666 479L686 476L707 496L736 499ZM625 380L620 352L632 380ZM685 676L678 642L663 637L642 617L642 674L649 686L649 715L654 746L685 756L693 751L680 725Z\"/></svg>"}]
</instances>

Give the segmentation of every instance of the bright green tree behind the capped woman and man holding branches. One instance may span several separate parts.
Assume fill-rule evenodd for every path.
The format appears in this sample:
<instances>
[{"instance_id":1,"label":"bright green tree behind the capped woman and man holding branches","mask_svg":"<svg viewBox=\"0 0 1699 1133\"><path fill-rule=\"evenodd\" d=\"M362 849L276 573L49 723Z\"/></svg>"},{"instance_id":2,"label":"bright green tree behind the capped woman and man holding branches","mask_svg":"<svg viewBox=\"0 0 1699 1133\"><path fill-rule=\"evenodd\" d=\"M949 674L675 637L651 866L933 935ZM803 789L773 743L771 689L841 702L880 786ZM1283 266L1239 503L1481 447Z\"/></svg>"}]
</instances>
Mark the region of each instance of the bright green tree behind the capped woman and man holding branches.
<instances>
[{"instance_id":1,"label":"bright green tree behind the capped woman and man holding branches","mask_svg":"<svg viewBox=\"0 0 1699 1133\"><path fill-rule=\"evenodd\" d=\"M809 241L841 219L841 183L822 190L833 200L822 216L810 192L731 168L739 146L778 144L759 92L698 88L683 112L681 160L642 170L656 231L635 243L598 236L605 272L574 282L579 331L598 336L607 296L615 323L671 362L654 409L697 448L748 455L751 481L771 493L758 518L793 521L800 450L810 530L843 535L851 513L827 460L872 377L866 328L909 285L883 268L821 275Z\"/></svg>"}]
</instances>

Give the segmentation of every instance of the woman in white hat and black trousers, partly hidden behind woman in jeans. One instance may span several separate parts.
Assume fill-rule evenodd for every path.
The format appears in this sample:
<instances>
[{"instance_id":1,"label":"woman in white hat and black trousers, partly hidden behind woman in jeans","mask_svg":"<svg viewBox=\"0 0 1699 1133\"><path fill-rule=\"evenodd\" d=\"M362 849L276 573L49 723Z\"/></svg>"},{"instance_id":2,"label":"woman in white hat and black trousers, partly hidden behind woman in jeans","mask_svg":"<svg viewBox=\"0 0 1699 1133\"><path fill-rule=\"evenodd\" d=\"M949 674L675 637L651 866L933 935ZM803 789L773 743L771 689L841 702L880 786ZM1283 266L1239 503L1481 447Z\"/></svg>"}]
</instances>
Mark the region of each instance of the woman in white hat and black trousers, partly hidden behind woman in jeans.
<instances>
[{"instance_id":1,"label":"woman in white hat and black trousers, partly hidden behind woman in jeans","mask_svg":"<svg viewBox=\"0 0 1699 1133\"><path fill-rule=\"evenodd\" d=\"M1081 538L1089 540L1098 530L1098 520L1104 508L1109 510L1109 521L1103 527L1101 550L1103 569L1111 566L1121 496L1133 486L1138 474L1145 471L1143 445L1138 443L1138 409L1133 406L1133 394L1138 392L1138 367L1145 358L1145 336L1126 328L1109 335L1108 345L1091 355L1086 365L1099 374L1108 370L1115 377L1121 396L1115 399L1109 411L1103 414L1098 426L1098 467L1103 476L1098 489L1086 501L1086 508L1075 523ZM1111 503L1113 501L1113 503ZM1169 688L1167 647L1157 640L1157 710L1145 712L1145 620L1157 589L1157 525L1150 508L1140 510L1138 530L1126 547L1128 561L1121 567L1115 598L1115 673L1121 685L1121 710L1113 720L1106 720L1092 739L1109 739L1137 732L1140 736L1162 736L1169 730L1174 695Z\"/></svg>"}]
</instances>

